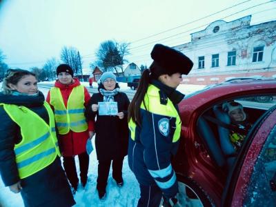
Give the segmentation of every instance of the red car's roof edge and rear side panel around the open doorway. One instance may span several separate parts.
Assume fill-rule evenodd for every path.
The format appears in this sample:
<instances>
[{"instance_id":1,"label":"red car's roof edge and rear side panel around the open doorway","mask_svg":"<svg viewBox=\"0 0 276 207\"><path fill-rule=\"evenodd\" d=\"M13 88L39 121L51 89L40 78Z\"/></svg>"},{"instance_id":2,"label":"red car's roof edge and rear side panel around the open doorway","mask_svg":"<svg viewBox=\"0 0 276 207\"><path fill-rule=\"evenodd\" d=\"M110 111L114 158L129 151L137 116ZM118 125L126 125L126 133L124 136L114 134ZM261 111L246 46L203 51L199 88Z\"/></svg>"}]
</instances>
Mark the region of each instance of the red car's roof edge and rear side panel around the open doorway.
<instances>
[{"instance_id":1,"label":"red car's roof edge and rear side panel around the open doorway","mask_svg":"<svg viewBox=\"0 0 276 207\"><path fill-rule=\"evenodd\" d=\"M181 158L183 166L181 166L181 172L179 173L193 178L210 199L213 200L216 206L221 206L226 173L215 165L207 151L204 150L204 145L197 133L197 119L215 103L233 99L233 97L246 97L247 95L257 95L258 93L260 95L275 94L275 88L276 81L273 79L266 81L248 80L242 81L242 83L229 82L218 84L213 88L190 96L179 103L179 112L182 121L181 139L183 139L182 143L184 145L182 147L184 156ZM253 153L253 151L248 153ZM248 154L248 157L250 157L250 154ZM247 163L245 164L247 165ZM243 181L241 179L237 188L243 186L245 182L246 180ZM241 199L238 193L235 194L234 198Z\"/></svg>"}]
</instances>

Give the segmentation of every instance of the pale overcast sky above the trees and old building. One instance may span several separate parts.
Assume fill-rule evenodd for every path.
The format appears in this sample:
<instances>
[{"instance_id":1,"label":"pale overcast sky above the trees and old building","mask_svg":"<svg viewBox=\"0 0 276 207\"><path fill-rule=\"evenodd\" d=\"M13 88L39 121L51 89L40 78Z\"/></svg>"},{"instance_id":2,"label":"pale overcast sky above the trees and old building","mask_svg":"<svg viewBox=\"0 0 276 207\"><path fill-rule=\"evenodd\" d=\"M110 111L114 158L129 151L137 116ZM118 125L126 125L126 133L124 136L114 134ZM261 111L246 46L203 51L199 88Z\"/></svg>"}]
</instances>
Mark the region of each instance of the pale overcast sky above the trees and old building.
<instances>
[{"instance_id":1,"label":"pale overcast sky above the trees and old building","mask_svg":"<svg viewBox=\"0 0 276 207\"><path fill-rule=\"evenodd\" d=\"M276 1L269 0L0 2L0 50L10 68L23 69L42 67L52 57L59 60L63 46L77 48L83 68L89 68L99 44L108 39L130 43L131 55L126 58L149 66L155 43L186 43L190 33L204 30L213 21L233 21L249 14L251 25L276 20Z\"/></svg>"}]
</instances>

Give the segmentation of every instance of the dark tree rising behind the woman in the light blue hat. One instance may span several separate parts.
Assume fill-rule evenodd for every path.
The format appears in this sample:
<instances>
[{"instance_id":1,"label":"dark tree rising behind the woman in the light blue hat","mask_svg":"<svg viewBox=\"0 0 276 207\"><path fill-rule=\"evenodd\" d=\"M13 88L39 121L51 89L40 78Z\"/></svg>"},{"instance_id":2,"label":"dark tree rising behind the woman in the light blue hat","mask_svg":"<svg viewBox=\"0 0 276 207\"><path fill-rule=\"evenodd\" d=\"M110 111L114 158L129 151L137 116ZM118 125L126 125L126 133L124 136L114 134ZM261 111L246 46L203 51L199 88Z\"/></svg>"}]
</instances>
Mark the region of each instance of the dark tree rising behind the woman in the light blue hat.
<instances>
[{"instance_id":1,"label":"dark tree rising behind the woman in the light blue hat","mask_svg":"<svg viewBox=\"0 0 276 207\"><path fill-rule=\"evenodd\" d=\"M124 59L129 54L129 43L117 43L117 41L103 41L96 52L97 65L103 68L104 72L113 71L119 75L118 66L124 74L123 65L127 60Z\"/></svg>"}]
</instances>

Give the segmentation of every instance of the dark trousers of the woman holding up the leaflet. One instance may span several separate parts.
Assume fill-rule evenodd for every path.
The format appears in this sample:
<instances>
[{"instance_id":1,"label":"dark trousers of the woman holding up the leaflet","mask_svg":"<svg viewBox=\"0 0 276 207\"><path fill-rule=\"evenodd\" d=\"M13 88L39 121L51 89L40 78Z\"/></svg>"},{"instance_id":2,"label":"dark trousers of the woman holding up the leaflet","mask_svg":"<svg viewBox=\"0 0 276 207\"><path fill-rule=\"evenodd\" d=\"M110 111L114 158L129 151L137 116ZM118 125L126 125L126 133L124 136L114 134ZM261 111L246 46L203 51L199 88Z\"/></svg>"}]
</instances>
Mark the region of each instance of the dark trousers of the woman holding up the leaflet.
<instances>
[{"instance_id":1,"label":"dark trousers of the woman holding up the leaflet","mask_svg":"<svg viewBox=\"0 0 276 207\"><path fill-rule=\"evenodd\" d=\"M113 160L99 160L98 164L98 178L97 178L97 190L106 190L108 184L108 174L110 170L110 164L112 161L112 177L117 182L123 181L121 170L123 168L124 157Z\"/></svg>"}]
</instances>

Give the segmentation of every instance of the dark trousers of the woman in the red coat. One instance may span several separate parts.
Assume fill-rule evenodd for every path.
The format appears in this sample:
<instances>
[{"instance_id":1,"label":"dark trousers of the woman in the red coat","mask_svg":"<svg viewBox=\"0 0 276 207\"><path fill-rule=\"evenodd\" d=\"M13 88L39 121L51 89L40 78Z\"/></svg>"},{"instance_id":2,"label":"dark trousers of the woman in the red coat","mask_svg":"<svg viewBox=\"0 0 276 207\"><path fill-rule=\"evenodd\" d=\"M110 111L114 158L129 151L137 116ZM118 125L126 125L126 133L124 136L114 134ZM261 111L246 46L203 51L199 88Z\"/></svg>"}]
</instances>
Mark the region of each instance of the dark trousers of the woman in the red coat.
<instances>
[{"instance_id":1,"label":"dark trousers of the woman in the red coat","mask_svg":"<svg viewBox=\"0 0 276 207\"><path fill-rule=\"evenodd\" d=\"M81 177L81 184L86 184L89 155L87 154L87 152L83 152L79 154L78 157L79 157L79 170L81 171L79 175ZM77 177L75 158L63 157L63 167L71 186L76 189L79 184L79 179Z\"/></svg>"}]
</instances>

